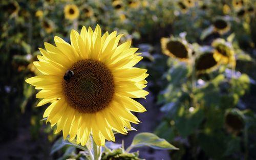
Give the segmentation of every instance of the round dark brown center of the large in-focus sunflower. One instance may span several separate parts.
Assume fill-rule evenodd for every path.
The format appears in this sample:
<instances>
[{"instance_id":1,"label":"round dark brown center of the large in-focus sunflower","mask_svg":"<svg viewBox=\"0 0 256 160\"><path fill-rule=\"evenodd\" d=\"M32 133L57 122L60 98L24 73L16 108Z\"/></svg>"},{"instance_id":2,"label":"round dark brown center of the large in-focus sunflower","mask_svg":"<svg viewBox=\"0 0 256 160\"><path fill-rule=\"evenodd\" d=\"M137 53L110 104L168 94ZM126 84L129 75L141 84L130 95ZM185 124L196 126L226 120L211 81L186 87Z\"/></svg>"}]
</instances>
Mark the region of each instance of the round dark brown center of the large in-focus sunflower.
<instances>
[{"instance_id":1,"label":"round dark brown center of the large in-focus sunflower","mask_svg":"<svg viewBox=\"0 0 256 160\"><path fill-rule=\"evenodd\" d=\"M114 95L114 79L102 62L80 60L64 75L62 88L71 107L79 112L95 113L110 104Z\"/></svg>"}]
</instances>

